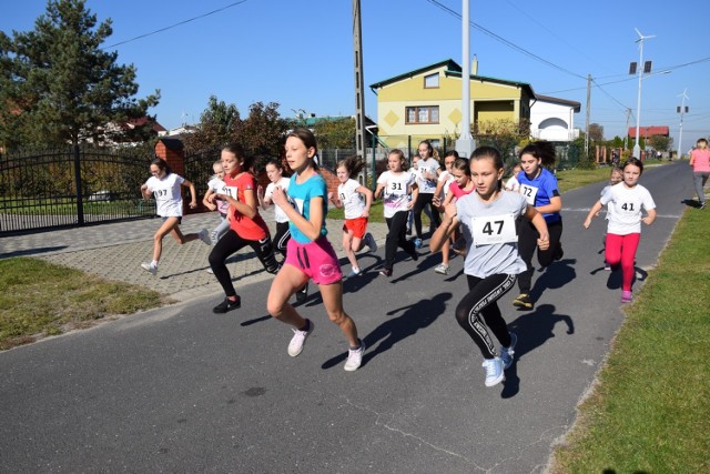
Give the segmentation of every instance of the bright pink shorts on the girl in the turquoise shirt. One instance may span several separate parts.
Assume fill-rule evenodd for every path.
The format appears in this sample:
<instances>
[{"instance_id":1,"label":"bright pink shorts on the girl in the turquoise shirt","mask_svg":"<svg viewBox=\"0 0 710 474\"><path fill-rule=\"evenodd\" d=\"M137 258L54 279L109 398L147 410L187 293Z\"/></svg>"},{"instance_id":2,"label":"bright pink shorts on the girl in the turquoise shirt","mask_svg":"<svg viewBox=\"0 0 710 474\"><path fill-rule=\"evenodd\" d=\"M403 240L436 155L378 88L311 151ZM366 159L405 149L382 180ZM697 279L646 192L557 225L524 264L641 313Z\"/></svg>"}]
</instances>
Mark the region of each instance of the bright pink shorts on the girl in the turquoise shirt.
<instances>
[{"instance_id":1,"label":"bright pink shorts on the girl in the turquoise shirt","mask_svg":"<svg viewBox=\"0 0 710 474\"><path fill-rule=\"evenodd\" d=\"M284 263L301 270L316 284L332 284L343 279L337 255L325 236L308 243L291 239Z\"/></svg>"}]
</instances>

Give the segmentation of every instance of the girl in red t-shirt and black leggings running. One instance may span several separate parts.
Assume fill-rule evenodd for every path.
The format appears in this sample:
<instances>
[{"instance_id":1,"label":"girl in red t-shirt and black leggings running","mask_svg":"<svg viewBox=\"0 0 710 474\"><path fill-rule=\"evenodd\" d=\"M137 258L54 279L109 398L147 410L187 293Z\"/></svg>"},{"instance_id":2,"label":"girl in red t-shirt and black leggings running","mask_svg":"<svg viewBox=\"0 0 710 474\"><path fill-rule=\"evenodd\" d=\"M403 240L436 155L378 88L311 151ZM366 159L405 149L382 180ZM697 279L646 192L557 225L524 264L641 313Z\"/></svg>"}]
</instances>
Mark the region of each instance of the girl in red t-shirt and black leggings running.
<instances>
[{"instance_id":1,"label":"girl in red t-shirt and black leggings running","mask_svg":"<svg viewBox=\"0 0 710 474\"><path fill-rule=\"evenodd\" d=\"M242 305L226 268L226 259L233 253L248 245L268 273L278 271L268 228L258 214L256 179L248 172L252 164L253 160L246 158L241 144L234 143L222 149L226 189L209 198L212 203L217 199L230 203L230 230L210 252L210 266L225 294L224 301L212 309L214 313L226 313Z\"/></svg>"}]
</instances>

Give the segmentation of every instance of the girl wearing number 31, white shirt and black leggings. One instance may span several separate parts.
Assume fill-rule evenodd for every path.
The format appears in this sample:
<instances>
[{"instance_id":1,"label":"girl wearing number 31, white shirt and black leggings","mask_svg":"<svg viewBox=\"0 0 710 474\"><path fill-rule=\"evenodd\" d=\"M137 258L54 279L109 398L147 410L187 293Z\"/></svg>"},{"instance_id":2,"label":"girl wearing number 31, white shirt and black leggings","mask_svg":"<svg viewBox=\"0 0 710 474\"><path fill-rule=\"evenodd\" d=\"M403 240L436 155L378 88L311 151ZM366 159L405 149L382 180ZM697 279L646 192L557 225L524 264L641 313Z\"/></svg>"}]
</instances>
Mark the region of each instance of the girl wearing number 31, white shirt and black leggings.
<instances>
[{"instance_id":1,"label":"girl wearing number 31, white shirt and black leggings","mask_svg":"<svg viewBox=\"0 0 710 474\"><path fill-rule=\"evenodd\" d=\"M404 153L395 149L387 154L388 171L377 178L375 198L384 194L385 221L387 222L387 240L385 242L385 266L379 271L383 276L392 276L395 266L395 254L400 246L416 262L419 259L414 242L407 240L405 226L407 214L412 209L412 188L414 175L404 169ZM416 189L414 190L416 200Z\"/></svg>"}]
</instances>

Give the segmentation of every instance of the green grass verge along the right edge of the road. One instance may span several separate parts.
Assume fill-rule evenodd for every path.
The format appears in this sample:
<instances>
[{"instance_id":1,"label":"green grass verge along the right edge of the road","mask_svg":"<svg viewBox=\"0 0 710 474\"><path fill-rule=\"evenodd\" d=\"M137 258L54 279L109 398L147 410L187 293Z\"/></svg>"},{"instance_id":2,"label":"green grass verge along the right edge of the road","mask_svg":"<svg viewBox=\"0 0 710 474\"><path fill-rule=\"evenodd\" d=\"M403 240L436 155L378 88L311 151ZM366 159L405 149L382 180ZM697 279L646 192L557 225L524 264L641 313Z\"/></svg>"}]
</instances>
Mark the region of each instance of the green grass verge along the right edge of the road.
<instances>
[{"instance_id":1,"label":"green grass verge along the right edge of the road","mask_svg":"<svg viewBox=\"0 0 710 474\"><path fill-rule=\"evenodd\" d=\"M710 472L709 232L707 211L686 212L551 472Z\"/></svg>"}]
</instances>

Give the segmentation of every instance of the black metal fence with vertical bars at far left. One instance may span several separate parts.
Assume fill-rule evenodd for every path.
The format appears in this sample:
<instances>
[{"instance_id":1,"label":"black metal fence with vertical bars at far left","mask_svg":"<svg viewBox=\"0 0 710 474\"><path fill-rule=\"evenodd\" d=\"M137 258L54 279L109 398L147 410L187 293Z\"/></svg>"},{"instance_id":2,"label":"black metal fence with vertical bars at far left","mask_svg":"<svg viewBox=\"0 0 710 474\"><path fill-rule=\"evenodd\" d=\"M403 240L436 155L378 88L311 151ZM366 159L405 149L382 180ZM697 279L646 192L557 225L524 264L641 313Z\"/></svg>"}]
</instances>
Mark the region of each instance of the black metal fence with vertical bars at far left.
<instances>
[{"instance_id":1,"label":"black metal fence with vertical bars at far left","mask_svg":"<svg viewBox=\"0 0 710 474\"><path fill-rule=\"evenodd\" d=\"M155 215L140 192L152 158L87 147L0 155L0 235Z\"/></svg>"}]
</instances>

